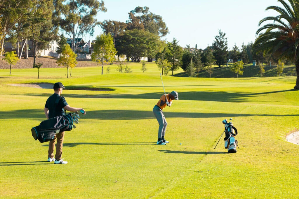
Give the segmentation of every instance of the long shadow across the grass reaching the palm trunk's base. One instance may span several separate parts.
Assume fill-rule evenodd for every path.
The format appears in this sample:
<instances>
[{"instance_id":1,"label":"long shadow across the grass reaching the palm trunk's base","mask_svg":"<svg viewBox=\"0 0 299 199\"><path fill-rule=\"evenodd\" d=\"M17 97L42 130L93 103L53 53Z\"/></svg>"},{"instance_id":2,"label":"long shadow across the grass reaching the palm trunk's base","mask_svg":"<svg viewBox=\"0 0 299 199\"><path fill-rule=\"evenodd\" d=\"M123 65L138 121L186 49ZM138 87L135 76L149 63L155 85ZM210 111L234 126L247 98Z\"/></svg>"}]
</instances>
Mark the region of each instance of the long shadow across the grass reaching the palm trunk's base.
<instances>
[{"instance_id":1,"label":"long shadow across the grass reaching the palm trunk's base","mask_svg":"<svg viewBox=\"0 0 299 199\"><path fill-rule=\"evenodd\" d=\"M290 92L296 91L295 89L290 90L277 90L269 92L231 92L231 91L190 91L190 92L179 92L180 100L196 100L196 101L222 101L222 102L254 102L256 100L251 100L251 97L259 97L263 95L268 95L272 93L280 92ZM82 92L82 91L81 91ZM170 91L169 91L170 92ZM25 95L29 96L41 96L49 97L48 93L28 93ZM162 92L152 92L152 93L142 93L142 94L101 94L95 92L94 94L90 93L80 93L80 94L62 94L67 100L67 98L115 98L115 99L160 99Z\"/></svg>"}]
</instances>

